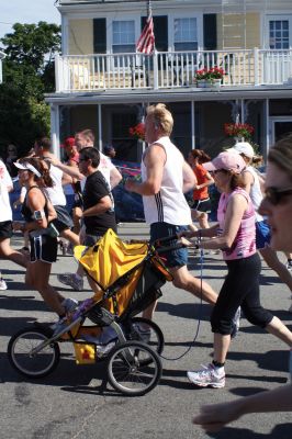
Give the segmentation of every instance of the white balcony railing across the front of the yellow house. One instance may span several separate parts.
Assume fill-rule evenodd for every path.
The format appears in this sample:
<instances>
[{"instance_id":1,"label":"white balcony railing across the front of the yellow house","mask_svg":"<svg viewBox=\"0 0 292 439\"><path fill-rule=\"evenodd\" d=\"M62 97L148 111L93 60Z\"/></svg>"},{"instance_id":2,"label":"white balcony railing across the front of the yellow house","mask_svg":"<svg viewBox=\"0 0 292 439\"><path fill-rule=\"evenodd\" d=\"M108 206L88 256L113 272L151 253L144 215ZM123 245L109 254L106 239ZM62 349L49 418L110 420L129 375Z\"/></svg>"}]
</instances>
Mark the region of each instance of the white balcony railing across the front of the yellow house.
<instances>
[{"instance_id":1,"label":"white balcony railing across the front of the yellow house","mask_svg":"<svg viewBox=\"0 0 292 439\"><path fill-rule=\"evenodd\" d=\"M57 56L56 92L195 87L196 70L215 66L224 69L223 87L283 85L292 49Z\"/></svg>"}]
</instances>

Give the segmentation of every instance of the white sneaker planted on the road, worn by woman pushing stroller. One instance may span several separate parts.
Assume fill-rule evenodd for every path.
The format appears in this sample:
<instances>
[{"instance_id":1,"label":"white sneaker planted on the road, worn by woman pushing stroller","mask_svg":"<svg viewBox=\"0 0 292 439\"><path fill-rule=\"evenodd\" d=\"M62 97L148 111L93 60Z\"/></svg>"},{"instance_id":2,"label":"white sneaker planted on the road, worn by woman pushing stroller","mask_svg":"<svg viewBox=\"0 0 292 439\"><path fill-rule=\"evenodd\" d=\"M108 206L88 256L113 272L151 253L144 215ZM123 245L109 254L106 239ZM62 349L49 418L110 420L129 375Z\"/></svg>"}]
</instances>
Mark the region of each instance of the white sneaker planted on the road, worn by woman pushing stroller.
<instances>
[{"instance_id":1,"label":"white sneaker planted on the road, worn by woman pushing stroller","mask_svg":"<svg viewBox=\"0 0 292 439\"><path fill-rule=\"evenodd\" d=\"M220 368L218 371L214 364L207 364L199 371L187 372L188 379L195 385L200 387L211 386L214 389L221 389L225 386L225 371L224 368Z\"/></svg>"}]
</instances>

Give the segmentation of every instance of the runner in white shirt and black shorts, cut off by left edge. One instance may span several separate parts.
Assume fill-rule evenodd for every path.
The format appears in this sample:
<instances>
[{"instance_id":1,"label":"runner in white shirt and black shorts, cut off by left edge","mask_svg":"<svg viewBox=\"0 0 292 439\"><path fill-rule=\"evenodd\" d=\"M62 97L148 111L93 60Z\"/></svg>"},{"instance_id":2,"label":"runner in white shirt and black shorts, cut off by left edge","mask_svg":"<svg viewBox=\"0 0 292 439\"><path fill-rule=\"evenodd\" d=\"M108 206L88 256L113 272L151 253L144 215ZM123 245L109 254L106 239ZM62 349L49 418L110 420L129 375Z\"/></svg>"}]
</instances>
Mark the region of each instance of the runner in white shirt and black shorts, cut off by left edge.
<instances>
[{"instance_id":1,"label":"runner in white shirt and black shorts, cut off by left edge","mask_svg":"<svg viewBox=\"0 0 292 439\"><path fill-rule=\"evenodd\" d=\"M26 267L27 260L20 251L10 246L12 236L12 211L10 206L9 192L13 190L13 182L5 165L0 160L0 258L10 259L19 266ZM7 290L7 284L0 275L0 290Z\"/></svg>"}]
</instances>

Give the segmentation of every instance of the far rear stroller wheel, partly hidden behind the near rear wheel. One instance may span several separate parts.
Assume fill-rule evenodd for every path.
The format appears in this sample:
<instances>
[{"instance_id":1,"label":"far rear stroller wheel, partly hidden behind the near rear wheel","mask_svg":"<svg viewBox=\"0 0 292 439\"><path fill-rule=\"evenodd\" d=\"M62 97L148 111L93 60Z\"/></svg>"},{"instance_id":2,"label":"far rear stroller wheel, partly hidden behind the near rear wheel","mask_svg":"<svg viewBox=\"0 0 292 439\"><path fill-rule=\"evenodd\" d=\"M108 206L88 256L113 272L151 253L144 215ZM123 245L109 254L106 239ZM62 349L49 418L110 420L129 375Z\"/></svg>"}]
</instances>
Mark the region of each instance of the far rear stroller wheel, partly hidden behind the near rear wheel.
<instances>
[{"instance_id":1,"label":"far rear stroller wheel, partly hidden behind the near rear wheel","mask_svg":"<svg viewBox=\"0 0 292 439\"><path fill-rule=\"evenodd\" d=\"M131 339L145 342L158 354L165 347L165 337L159 326L144 317L133 317L131 324ZM145 359L144 364L149 364L150 359Z\"/></svg>"}]
</instances>

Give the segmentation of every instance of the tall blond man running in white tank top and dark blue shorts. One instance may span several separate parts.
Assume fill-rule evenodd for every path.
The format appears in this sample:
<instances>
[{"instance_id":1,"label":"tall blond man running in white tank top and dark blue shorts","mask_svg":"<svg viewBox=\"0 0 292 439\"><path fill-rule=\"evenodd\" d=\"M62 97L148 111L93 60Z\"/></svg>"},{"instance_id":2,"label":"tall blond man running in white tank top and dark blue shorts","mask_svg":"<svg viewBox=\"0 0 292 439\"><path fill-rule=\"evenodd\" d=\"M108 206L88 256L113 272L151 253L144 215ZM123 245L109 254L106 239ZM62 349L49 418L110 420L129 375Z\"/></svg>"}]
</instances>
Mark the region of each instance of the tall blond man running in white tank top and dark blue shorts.
<instances>
[{"instance_id":1,"label":"tall blond man running in white tank top and dark blue shorts","mask_svg":"<svg viewBox=\"0 0 292 439\"><path fill-rule=\"evenodd\" d=\"M150 224L150 240L172 236L186 230L192 223L190 207L183 193L195 185L195 177L180 150L169 136L173 126L171 113L165 104L150 105L145 121L145 139L148 143L142 160L142 180L127 180L125 189L143 196L145 218ZM164 255L173 275L173 284L201 296L201 281L187 268L186 248ZM202 297L214 304L216 293L203 282ZM155 304L144 312L151 318Z\"/></svg>"}]
</instances>

